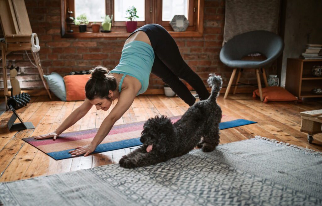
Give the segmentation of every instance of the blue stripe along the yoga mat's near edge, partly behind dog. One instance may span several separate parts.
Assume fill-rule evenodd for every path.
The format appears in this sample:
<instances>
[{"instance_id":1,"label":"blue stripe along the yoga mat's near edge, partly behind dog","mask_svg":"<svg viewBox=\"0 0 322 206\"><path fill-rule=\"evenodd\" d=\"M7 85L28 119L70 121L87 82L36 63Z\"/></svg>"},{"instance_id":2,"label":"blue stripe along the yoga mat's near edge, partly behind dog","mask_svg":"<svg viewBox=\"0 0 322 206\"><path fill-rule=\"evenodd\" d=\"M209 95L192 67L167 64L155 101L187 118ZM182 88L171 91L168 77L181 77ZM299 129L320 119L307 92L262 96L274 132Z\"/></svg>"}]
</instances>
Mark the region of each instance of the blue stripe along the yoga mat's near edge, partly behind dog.
<instances>
[{"instance_id":1,"label":"blue stripe along the yoga mat's near edge, partly behind dog","mask_svg":"<svg viewBox=\"0 0 322 206\"><path fill-rule=\"evenodd\" d=\"M228 129L228 128L239 127L239 126L254 124L254 123L257 123L257 122L249 121L246 119L236 119L236 120L227 121L227 122L220 122L219 129ZM108 152L108 151L123 149L123 148L127 148L127 147L134 147L134 146L138 146L141 144L142 143L140 142L139 137L133 138L133 139L122 140L122 141L118 141L118 142L99 144L96 147L96 150L94 152L92 152L92 154L100 153L100 152ZM72 149L72 150L74 150L74 149ZM50 152L47 154L49 156L51 156L52 158L54 158L55 160L62 160L62 159L71 158L71 154L68 153L69 151L71 151L71 150ZM79 156L82 156L82 155L79 155Z\"/></svg>"}]
</instances>

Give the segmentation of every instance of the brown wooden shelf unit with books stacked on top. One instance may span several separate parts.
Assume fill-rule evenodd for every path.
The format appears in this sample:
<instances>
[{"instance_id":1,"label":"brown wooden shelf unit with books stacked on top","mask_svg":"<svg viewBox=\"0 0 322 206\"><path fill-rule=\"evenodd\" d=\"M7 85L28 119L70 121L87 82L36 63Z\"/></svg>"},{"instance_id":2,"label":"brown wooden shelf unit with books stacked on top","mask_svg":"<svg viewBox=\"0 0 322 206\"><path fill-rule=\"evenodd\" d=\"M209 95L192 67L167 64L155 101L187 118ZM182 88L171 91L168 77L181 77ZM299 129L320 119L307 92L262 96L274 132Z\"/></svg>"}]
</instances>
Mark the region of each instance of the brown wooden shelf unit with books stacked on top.
<instances>
[{"instance_id":1,"label":"brown wooden shelf unit with books stacked on top","mask_svg":"<svg viewBox=\"0 0 322 206\"><path fill-rule=\"evenodd\" d=\"M322 97L313 94L313 88L322 88L322 77L315 77L311 71L314 65L322 65L322 59L288 58L285 89L298 98Z\"/></svg>"}]
</instances>

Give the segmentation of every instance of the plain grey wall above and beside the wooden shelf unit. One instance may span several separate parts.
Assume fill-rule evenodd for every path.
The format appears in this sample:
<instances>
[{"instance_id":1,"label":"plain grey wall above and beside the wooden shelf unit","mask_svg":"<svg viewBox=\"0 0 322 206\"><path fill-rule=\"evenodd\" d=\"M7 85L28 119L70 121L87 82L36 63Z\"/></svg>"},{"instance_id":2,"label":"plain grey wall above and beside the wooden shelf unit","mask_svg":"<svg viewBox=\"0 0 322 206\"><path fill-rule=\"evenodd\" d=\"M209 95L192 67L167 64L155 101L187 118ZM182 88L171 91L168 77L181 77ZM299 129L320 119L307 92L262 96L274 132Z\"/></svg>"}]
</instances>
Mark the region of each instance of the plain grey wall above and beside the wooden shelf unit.
<instances>
[{"instance_id":1,"label":"plain grey wall above and beside the wooden shelf unit","mask_svg":"<svg viewBox=\"0 0 322 206\"><path fill-rule=\"evenodd\" d=\"M287 58L297 58L306 44L322 44L322 0L288 0L281 86L285 86Z\"/></svg>"}]
</instances>

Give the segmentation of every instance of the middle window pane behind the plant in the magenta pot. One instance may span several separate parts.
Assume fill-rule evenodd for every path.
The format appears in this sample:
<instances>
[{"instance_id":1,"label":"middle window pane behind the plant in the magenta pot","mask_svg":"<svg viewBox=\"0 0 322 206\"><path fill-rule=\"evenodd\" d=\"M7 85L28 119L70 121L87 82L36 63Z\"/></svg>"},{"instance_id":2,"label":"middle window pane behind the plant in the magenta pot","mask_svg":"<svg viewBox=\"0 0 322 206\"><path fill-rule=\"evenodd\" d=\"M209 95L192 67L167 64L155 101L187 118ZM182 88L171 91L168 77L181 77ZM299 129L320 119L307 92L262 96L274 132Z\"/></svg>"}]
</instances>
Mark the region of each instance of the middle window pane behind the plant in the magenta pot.
<instances>
[{"instance_id":1,"label":"middle window pane behind the plant in the magenta pot","mask_svg":"<svg viewBox=\"0 0 322 206\"><path fill-rule=\"evenodd\" d=\"M128 7L137 8L136 21L145 21L145 0L114 0L114 21L130 21L125 14Z\"/></svg>"}]
</instances>

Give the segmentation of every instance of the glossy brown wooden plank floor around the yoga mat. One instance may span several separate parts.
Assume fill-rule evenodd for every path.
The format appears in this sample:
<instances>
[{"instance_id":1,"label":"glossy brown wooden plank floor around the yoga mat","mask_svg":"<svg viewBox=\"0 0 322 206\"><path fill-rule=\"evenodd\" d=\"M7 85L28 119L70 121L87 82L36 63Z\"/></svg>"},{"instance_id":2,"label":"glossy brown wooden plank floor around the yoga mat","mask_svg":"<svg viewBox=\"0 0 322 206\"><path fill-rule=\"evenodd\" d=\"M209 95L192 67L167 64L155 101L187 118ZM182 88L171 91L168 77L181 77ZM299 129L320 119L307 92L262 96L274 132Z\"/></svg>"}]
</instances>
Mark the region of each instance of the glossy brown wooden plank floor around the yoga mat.
<instances>
[{"instance_id":1,"label":"glossy brown wooden plank floor around the yoga mat","mask_svg":"<svg viewBox=\"0 0 322 206\"><path fill-rule=\"evenodd\" d=\"M81 103L62 102L57 98L51 101L46 96L32 97L30 103L17 112L24 121L31 121L36 128L19 132L10 132L6 126L11 116L10 111L0 115L0 181L14 181L118 163L123 155L135 149L126 148L87 157L81 156L55 161L22 140L25 137L54 131ZM66 132L98 128L116 103L117 101L108 111L97 111L95 107L92 107L86 116ZM315 135L313 143L308 144L307 134L299 131L301 124L299 112L321 109L321 100L308 100L303 103L261 103L259 99L253 100L250 94L239 94L230 95L226 100L223 100L223 95L220 95L218 103L225 115L235 119L243 118L258 122L257 124L222 130L221 144L260 135L322 151L321 134ZM155 115L169 117L182 115L187 109L188 105L178 97L140 95L116 124L144 121Z\"/></svg>"}]
</instances>

